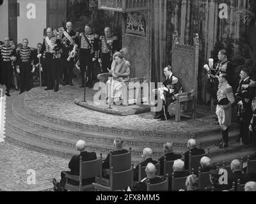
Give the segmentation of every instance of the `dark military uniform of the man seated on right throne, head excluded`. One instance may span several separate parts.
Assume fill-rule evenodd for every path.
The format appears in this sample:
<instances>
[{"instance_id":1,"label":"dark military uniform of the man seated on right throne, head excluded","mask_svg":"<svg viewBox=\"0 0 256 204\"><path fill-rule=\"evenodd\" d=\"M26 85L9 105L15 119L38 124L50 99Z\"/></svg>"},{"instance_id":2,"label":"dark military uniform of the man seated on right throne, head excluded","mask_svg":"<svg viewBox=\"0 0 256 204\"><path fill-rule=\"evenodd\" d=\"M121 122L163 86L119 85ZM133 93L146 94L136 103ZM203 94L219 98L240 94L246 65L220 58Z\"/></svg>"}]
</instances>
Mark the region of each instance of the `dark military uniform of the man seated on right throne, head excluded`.
<instances>
[{"instance_id":1,"label":"dark military uniform of the man seated on right throne, head excluded","mask_svg":"<svg viewBox=\"0 0 256 204\"><path fill-rule=\"evenodd\" d=\"M176 82L175 82L176 81ZM168 113L168 106L175 101L174 95L178 94L180 90L182 89L182 86L179 82L179 80L174 77L173 75L171 77L167 77L166 80L163 82L164 87L168 89L168 91L164 91L165 94L165 102L163 101L166 117L170 118L170 114ZM155 118L164 117L164 110L162 110L158 113L156 113Z\"/></svg>"}]
</instances>

